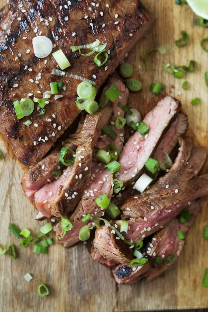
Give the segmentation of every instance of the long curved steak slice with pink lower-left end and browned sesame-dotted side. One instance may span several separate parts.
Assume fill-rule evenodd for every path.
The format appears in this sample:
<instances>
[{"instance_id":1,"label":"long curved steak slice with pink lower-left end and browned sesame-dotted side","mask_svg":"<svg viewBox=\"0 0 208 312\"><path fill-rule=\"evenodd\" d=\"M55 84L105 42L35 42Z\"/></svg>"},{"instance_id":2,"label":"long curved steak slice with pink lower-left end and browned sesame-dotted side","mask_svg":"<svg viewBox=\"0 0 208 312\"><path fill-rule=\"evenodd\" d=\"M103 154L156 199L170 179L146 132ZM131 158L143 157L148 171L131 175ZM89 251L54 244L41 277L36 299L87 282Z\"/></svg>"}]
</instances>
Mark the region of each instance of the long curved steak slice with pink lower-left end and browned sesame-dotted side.
<instances>
[{"instance_id":1,"label":"long curved steak slice with pink lower-left end and browned sesame-dotted side","mask_svg":"<svg viewBox=\"0 0 208 312\"><path fill-rule=\"evenodd\" d=\"M64 169L56 181L46 184L35 193L37 209L46 217L60 217L73 210L91 176L92 152L103 124L111 116L111 108L87 115L80 133L70 136L77 146L74 163Z\"/></svg>"}]
</instances>

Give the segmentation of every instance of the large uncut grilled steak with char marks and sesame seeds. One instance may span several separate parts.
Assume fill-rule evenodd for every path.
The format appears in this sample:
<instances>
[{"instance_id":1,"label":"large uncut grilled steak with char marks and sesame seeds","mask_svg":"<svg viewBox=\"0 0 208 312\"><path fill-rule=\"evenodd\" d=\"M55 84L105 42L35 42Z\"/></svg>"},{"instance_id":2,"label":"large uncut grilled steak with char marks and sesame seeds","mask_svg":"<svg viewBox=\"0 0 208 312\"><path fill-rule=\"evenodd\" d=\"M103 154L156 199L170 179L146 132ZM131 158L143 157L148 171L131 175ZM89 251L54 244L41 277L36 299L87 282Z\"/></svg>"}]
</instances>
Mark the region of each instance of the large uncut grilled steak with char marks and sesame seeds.
<instances>
[{"instance_id":1,"label":"large uncut grilled steak with char marks and sesame seeds","mask_svg":"<svg viewBox=\"0 0 208 312\"><path fill-rule=\"evenodd\" d=\"M66 91L60 92L63 97L58 100L51 97L45 115L38 115L35 103L29 117L17 120L15 100L42 98L49 83L60 79L52 76L52 69L59 68L52 55L43 59L34 55L32 38L49 37L53 52L62 49L70 61L67 71L95 80L99 89L154 22L139 0L107 3L107 0L96 5L87 0L14 0L0 11L0 132L17 159L27 167L43 158L80 113L76 106L80 81L62 77ZM96 39L102 44L107 42L108 51L105 66L99 68L93 62L95 55L84 57L70 49ZM30 127L24 125L27 119L32 122Z\"/></svg>"}]
</instances>

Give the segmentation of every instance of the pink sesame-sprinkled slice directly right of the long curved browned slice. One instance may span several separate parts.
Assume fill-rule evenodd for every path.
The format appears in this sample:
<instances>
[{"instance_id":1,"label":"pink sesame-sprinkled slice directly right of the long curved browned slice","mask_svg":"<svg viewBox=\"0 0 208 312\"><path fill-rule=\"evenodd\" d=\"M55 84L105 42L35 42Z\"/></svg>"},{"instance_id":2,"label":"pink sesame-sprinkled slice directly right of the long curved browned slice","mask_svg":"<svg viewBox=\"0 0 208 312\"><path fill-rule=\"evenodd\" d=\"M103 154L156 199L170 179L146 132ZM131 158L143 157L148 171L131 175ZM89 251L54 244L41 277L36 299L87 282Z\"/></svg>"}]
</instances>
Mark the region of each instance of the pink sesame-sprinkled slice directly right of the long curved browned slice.
<instances>
[{"instance_id":1,"label":"pink sesame-sprinkled slice directly right of the long curved browned slice","mask_svg":"<svg viewBox=\"0 0 208 312\"><path fill-rule=\"evenodd\" d=\"M106 196L111 199L113 192L112 181L113 175L106 171L104 165L100 165L99 163L92 164L91 181L87 183L82 199L75 209L75 212L70 217L73 228L59 241L64 247L69 247L77 243L79 241L79 230L85 225L94 226L93 220L104 215L104 211L97 206L95 199L100 194L106 194ZM88 213L92 215L92 218L83 223L82 217L86 216ZM56 236L59 238L62 234L63 231L60 221L56 226Z\"/></svg>"}]
</instances>

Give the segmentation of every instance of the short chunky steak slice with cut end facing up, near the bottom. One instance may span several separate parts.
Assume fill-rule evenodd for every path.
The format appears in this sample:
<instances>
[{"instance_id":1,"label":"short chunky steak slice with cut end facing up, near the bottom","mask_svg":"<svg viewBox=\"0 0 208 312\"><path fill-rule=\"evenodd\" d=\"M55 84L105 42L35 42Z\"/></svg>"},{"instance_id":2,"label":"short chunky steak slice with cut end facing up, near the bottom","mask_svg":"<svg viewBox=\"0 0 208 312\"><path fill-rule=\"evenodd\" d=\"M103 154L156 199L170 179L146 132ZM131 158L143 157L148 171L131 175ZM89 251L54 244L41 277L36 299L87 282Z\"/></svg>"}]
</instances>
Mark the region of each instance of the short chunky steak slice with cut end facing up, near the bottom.
<instances>
[{"instance_id":1,"label":"short chunky steak slice with cut end facing up, near the bottom","mask_svg":"<svg viewBox=\"0 0 208 312\"><path fill-rule=\"evenodd\" d=\"M108 261L126 263L133 259L132 249L106 225L96 229L93 244L98 253Z\"/></svg>"}]
</instances>

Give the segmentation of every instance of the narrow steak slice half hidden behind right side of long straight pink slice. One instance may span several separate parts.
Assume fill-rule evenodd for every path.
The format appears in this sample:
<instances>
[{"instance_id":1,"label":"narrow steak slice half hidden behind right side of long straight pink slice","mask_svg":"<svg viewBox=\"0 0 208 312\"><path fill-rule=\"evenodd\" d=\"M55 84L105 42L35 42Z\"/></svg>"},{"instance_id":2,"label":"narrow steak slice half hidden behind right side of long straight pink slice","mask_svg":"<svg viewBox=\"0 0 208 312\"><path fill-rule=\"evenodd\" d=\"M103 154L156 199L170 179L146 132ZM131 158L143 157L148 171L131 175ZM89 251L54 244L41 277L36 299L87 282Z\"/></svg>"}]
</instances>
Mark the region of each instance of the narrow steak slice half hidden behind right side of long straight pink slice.
<instances>
[{"instance_id":1,"label":"narrow steak slice half hidden behind right side of long straight pink slice","mask_svg":"<svg viewBox=\"0 0 208 312\"><path fill-rule=\"evenodd\" d=\"M170 129L164 135L161 143L158 145L154 158L160 161L160 167L164 170L165 165L165 154L170 155L176 144L178 143L178 138L184 134L188 127L188 117L187 115L180 113L176 117L176 120L171 124Z\"/></svg>"}]
</instances>

